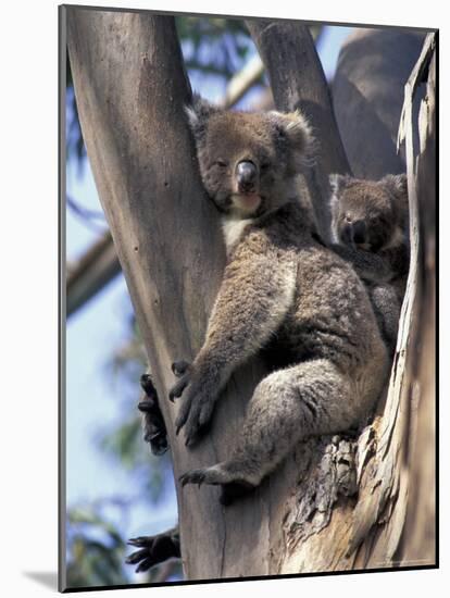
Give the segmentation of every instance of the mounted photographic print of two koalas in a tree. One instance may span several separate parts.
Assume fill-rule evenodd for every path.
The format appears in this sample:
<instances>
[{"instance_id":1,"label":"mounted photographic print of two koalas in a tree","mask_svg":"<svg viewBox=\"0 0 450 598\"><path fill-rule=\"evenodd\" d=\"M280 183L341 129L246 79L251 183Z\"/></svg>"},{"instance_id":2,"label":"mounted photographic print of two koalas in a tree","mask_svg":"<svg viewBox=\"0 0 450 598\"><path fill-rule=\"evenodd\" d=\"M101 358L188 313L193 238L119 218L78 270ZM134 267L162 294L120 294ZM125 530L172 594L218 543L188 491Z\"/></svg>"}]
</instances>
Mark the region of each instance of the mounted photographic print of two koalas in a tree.
<instances>
[{"instance_id":1,"label":"mounted photographic print of two koalas in a tree","mask_svg":"<svg viewBox=\"0 0 450 598\"><path fill-rule=\"evenodd\" d=\"M437 566L437 42L60 8L61 590Z\"/></svg>"}]
</instances>

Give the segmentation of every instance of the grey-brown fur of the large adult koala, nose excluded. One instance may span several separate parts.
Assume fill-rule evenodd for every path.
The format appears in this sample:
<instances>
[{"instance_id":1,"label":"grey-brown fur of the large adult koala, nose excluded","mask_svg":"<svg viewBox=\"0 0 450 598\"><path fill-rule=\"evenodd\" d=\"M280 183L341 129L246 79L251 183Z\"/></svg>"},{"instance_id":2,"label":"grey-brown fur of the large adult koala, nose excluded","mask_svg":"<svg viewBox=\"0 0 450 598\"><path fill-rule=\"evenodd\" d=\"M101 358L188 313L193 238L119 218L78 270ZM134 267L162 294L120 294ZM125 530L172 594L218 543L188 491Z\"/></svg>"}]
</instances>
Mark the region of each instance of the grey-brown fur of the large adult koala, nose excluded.
<instances>
[{"instance_id":1,"label":"grey-brown fur of the large adult koala, nose excluded","mask_svg":"<svg viewBox=\"0 0 450 598\"><path fill-rule=\"evenodd\" d=\"M187 445L236 367L262 348L284 360L255 388L229 459L180 481L254 487L307 436L361 423L383 388L387 351L363 284L317 241L293 195L296 157L311 142L304 119L205 110L204 101L197 111L198 102L190 121L202 179L225 226L237 228L203 347L171 391L183 395L176 426ZM249 197L236 187L240 160L259 173Z\"/></svg>"}]
</instances>

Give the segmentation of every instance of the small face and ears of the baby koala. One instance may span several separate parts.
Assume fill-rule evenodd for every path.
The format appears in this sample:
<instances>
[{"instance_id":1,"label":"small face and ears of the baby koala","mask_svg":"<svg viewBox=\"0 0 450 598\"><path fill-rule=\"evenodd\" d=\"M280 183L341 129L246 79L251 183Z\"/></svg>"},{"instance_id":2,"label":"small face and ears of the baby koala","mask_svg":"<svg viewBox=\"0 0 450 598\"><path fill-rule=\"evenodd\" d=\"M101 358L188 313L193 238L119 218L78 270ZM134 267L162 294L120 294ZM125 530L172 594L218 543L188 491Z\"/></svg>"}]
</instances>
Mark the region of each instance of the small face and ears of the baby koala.
<instances>
[{"instance_id":1,"label":"small face and ears of the baby koala","mask_svg":"<svg viewBox=\"0 0 450 598\"><path fill-rule=\"evenodd\" d=\"M330 185L336 242L376 252L399 238L408 213L405 175L378 182L332 175Z\"/></svg>"}]
</instances>

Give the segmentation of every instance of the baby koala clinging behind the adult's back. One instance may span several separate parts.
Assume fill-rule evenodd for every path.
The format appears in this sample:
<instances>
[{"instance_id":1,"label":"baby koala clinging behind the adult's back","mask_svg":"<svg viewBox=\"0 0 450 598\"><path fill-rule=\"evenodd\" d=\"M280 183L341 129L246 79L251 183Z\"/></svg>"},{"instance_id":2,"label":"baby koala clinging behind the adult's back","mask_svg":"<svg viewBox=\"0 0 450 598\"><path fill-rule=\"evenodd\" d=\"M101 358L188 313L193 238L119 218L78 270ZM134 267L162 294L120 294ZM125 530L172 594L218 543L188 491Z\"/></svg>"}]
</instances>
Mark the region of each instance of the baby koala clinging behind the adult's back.
<instances>
[{"instance_id":1,"label":"baby koala clinging behind the adult's back","mask_svg":"<svg viewBox=\"0 0 450 598\"><path fill-rule=\"evenodd\" d=\"M407 175L363 180L332 174L332 249L364 281L391 352L410 262Z\"/></svg>"}]
</instances>

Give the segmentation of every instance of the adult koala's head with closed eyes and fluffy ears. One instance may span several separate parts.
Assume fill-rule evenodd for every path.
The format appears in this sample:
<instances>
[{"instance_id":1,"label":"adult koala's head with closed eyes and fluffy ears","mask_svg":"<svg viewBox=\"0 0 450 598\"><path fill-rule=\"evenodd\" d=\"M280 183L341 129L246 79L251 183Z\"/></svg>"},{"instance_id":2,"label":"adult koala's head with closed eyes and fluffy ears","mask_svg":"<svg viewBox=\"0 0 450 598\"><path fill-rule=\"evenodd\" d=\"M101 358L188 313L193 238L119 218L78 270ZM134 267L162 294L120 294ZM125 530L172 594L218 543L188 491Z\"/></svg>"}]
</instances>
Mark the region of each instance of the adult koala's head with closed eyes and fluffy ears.
<instances>
[{"instance_id":1,"label":"adult koala's head with closed eyes and fluffy ears","mask_svg":"<svg viewBox=\"0 0 450 598\"><path fill-rule=\"evenodd\" d=\"M300 114L229 112L198 97L187 113L203 185L218 210L251 217L289 199L310 144Z\"/></svg>"}]
</instances>

